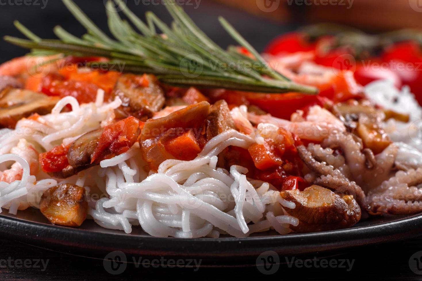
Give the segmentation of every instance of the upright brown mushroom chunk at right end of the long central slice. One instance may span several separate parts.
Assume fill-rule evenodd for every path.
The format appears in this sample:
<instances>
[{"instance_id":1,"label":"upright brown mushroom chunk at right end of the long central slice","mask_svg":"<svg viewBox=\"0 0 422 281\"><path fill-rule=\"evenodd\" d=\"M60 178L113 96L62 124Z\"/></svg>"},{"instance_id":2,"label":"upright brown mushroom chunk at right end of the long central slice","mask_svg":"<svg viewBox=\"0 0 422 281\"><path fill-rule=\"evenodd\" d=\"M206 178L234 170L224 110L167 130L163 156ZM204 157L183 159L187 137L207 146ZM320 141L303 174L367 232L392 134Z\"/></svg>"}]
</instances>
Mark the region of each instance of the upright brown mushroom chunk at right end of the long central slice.
<instances>
[{"instance_id":1,"label":"upright brown mushroom chunk at right end of the long central slice","mask_svg":"<svg viewBox=\"0 0 422 281\"><path fill-rule=\"evenodd\" d=\"M225 100L217 101L211 106L207 117L207 140L230 129L235 129L235 122L230 115L229 106Z\"/></svg>"}]
</instances>

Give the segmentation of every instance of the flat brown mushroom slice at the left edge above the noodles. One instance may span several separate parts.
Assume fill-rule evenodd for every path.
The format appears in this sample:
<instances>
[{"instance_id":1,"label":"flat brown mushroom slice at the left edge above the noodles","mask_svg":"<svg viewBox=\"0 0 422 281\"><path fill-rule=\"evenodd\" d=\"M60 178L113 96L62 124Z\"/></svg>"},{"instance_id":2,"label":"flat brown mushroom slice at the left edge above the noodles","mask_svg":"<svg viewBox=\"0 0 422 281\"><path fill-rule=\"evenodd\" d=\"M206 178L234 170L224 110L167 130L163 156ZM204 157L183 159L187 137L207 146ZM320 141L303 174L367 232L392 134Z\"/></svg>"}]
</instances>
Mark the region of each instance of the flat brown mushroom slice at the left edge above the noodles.
<instances>
[{"instance_id":1,"label":"flat brown mushroom slice at the left edge above the noodles","mask_svg":"<svg viewBox=\"0 0 422 281\"><path fill-rule=\"evenodd\" d=\"M34 113L49 114L59 100L59 97L8 87L0 93L0 127L14 128L20 119Z\"/></svg>"}]
</instances>

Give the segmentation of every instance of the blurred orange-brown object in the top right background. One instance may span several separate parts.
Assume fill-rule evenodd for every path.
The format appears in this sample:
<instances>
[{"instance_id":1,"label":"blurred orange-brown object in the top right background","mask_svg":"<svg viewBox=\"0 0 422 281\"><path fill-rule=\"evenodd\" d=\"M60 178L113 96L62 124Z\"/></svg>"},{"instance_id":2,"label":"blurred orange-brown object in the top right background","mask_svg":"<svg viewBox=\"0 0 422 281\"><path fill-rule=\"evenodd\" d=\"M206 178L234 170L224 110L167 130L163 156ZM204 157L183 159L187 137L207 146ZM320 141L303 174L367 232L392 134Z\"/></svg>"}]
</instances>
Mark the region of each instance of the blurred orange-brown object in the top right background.
<instances>
[{"instance_id":1,"label":"blurred orange-brown object in the top right background","mask_svg":"<svg viewBox=\"0 0 422 281\"><path fill-rule=\"evenodd\" d=\"M280 23L321 21L370 31L422 27L421 0L215 0Z\"/></svg>"}]
</instances>

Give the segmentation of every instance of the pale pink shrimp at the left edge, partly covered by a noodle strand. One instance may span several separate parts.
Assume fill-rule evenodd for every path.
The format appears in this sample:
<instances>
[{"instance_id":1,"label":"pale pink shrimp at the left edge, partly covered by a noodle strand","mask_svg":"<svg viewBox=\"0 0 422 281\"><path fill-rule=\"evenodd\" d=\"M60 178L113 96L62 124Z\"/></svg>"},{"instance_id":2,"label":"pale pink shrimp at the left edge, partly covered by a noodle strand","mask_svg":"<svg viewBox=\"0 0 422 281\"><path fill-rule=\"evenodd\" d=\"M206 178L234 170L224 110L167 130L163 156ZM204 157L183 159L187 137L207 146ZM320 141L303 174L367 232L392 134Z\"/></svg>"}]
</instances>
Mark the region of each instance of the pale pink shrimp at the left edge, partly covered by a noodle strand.
<instances>
[{"instance_id":1,"label":"pale pink shrimp at the left edge, partly covered by a noodle strand","mask_svg":"<svg viewBox=\"0 0 422 281\"><path fill-rule=\"evenodd\" d=\"M19 155L23 159L25 159L26 162L28 162L31 175L35 175L38 172L38 152L30 143L27 142L27 140L21 138L17 146L13 147L10 150L10 153ZM15 162L14 164L12 164L10 169L1 172L0 181L12 183L15 180L21 180L22 173L22 165L18 162Z\"/></svg>"}]
</instances>

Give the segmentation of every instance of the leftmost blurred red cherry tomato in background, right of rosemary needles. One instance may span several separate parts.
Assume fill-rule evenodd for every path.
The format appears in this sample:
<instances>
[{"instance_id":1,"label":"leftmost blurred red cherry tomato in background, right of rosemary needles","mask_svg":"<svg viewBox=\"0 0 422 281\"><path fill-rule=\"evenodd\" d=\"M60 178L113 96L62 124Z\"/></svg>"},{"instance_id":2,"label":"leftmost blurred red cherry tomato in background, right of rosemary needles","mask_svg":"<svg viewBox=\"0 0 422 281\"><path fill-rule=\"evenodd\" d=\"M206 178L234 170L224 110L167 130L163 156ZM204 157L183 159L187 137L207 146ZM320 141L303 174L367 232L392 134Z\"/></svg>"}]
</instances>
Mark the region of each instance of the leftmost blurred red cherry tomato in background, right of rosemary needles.
<instances>
[{"instance_id":1,"label":"leftmost blurred red cherry tomato in background, right of rosemary needles","mask_svg":"<svg viewBox=\"0 0 422 281\"><path fill-rule=\"evenodd\" d=\"M309 43L306 35L299 32L292 32L281 35L274 39L265 48L264 53L278 55L280 53L308 52L315 50L316 44Z\"/></svg>"}]
</instances>

